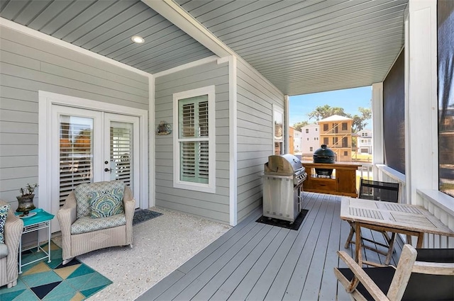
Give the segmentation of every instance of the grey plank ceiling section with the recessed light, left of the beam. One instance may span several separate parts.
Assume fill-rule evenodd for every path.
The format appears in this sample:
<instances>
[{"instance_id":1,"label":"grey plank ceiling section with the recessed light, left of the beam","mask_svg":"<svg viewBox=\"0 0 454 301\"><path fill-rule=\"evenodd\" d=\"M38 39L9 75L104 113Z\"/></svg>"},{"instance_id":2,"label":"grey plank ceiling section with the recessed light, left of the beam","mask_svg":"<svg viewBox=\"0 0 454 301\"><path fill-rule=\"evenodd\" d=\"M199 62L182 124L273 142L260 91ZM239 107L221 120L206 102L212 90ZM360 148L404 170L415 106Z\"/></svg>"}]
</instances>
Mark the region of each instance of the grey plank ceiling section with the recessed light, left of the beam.
<instances>
[{"instance_id":1,"label":"grey plank ceiling section with the recessed light, left of the beam","mask_svg":"<svg viewBox=\"0 0 454 301\"><path fill-rule=\"evenodd\" d=\"M0 16L151 74L213 53L140 0L1 0ZM145 38L135 44L133 35Z\"/></svg>"}]
</instances>

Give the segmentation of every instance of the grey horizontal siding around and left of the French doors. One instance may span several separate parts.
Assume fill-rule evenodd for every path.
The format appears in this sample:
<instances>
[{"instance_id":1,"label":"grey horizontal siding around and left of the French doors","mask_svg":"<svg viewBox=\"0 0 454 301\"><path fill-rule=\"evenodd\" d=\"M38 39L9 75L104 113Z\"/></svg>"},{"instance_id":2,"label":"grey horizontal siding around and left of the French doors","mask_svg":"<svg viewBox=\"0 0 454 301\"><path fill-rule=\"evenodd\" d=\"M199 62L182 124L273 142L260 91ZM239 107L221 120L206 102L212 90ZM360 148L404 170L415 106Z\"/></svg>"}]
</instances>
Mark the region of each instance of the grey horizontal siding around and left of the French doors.
<instances>
[{"instance_id":1,"label":"grey horizontal siding around and left of the French doors","mask_svg":"<svg viewBox=\"0 0 454 301\"><path fill-rule=\"evenodd\" d=\"M0 45L0 198L16 208L38 183L39 90L148 110L148 77L3 26Z\"/></svg>"}]
</instances>

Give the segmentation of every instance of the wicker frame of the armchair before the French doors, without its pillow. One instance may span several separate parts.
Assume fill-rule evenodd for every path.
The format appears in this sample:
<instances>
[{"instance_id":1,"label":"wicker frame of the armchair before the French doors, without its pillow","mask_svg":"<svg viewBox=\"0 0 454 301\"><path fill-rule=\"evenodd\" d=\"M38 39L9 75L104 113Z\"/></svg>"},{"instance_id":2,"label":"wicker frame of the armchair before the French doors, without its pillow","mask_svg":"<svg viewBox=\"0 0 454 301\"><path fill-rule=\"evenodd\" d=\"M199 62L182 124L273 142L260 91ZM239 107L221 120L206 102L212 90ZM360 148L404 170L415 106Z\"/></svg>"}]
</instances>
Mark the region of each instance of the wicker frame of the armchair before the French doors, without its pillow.
<instances>
[{"instance_id":1,"label":"wicker frame of the armchair before the French doors, without its pillow","mask_svg":"<svg viewBox=\"0 0 454 301\"><path fill-rule=\"evenodd\" d=\"M91 184L82 184L89 189L96 190L102 188L105 185L110 185L113 182L97 182ZM78 186L79 187L79 186ZM77 188L78 188L77 187ZM76 188L76 190L77 190ZM60 228L62 231L62 259L63 264L70 262L75 256L85 254L89 251L97 249L107 248L109 246L133 246L133 217L135 210L135 200L131 188L125 186L123 196L123 208L124 215L120 216L126 222L123 225L117 225L115 227L101 227L100 224L105 224L102 218L85 218L87 231L83 233L75 233L74 227L76 226L77 220L81 219L77 216L78 201L76 200L76 194L74 191L67 196L65 205L57 212L57 219L60 222ZM111 217L104 217L109 219ZM88 225L87 223L92 223ZM102 226L102 225L101 225Z\"/></svg>"}]
</instances>

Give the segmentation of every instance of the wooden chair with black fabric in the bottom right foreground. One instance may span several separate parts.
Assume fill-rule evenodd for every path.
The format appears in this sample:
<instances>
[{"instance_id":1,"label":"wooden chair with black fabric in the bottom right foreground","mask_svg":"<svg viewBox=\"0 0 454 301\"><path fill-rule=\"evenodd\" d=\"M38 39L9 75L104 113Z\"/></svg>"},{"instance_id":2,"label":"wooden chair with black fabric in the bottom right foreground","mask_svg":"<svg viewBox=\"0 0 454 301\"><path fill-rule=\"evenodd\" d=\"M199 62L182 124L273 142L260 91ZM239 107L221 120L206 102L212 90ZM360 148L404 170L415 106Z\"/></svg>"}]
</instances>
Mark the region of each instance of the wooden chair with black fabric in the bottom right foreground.
<instances>
[{"instance_id":1,"label":"wooden chair with black fabric in the bottom right foreground","mask_svg":"<svg viewBox=\"0 0 454 301\"><path fill-rule=\"evenodd\" d=\"M345 251L338 256L348 268L334 274L353 300L454 300L454 249L405 244L397 268L362 268Z\"/></svg>"}]
</instances>

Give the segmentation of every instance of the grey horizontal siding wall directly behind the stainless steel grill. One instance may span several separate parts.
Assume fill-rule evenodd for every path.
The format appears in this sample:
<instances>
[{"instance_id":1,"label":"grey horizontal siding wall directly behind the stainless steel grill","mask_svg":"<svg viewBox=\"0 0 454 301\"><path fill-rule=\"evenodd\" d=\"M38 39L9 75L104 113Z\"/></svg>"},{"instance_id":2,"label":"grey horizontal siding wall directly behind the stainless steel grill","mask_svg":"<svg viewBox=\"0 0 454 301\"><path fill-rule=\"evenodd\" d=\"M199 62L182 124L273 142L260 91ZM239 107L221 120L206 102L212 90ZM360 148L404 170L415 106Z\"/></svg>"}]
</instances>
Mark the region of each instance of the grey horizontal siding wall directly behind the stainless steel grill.
<instances>
[{"instance_id":1,"label":"grey horizontal siding wall directly behind the stainless steel grill","mask_svg":"<svg viewBox=\"0 0 454 301\"><path fill-rule=\"evenodd\" d=\"M272 108L283 110L284 95L238 62L238 222L262 204L263 164L273 152Z\"/></svg>"}]
</instances>

